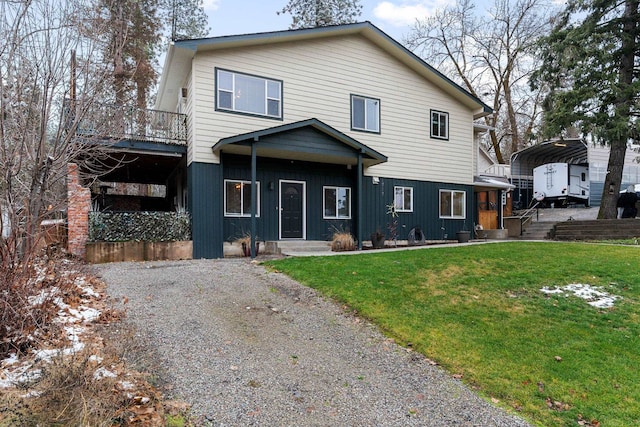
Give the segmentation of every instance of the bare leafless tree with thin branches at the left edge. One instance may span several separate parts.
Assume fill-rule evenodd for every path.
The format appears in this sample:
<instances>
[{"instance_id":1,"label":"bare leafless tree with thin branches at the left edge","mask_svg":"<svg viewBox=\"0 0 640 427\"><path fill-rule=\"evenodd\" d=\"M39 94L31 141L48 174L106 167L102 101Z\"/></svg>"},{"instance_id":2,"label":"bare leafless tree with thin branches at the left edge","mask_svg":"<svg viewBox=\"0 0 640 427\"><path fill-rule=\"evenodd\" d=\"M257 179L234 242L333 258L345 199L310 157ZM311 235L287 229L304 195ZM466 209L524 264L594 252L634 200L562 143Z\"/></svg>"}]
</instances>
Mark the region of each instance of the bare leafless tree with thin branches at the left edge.
<instances>
[{"instance_id":1,"label":"bare leafless tree with thin branches at the left edge","mask_svg":"<svg viewBox=\"0 0 640 427\"><path fill-rule=\"evenodd\" d=\"M97 171L109 122L95 120L107 69L80 36L82 0L0 2L0 264L35 253L44 218L60 211L66 165ZM72 61L72 52L77 59ZM85 137L78 138L78 130ZM0 278L1 281L1 278Z\"/></svg>"}]
</instances>

